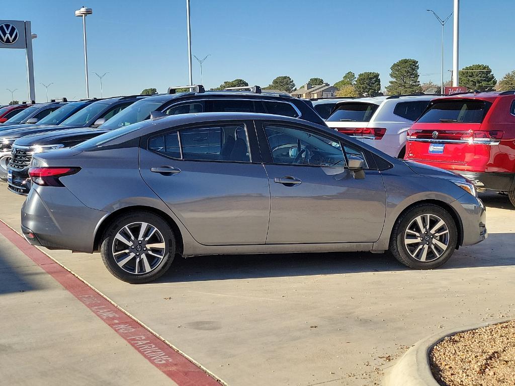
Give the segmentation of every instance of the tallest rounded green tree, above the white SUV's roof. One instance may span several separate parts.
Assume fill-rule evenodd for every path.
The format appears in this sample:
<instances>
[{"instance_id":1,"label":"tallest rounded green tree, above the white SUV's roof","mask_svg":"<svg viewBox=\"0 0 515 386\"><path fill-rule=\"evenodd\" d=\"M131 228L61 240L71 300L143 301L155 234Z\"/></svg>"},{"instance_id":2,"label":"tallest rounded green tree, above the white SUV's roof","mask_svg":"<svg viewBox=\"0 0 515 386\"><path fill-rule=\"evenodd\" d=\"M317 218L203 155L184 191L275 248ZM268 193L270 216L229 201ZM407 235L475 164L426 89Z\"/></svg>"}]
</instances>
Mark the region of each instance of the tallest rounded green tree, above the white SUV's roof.
<instances>
[{"instance_id":1,"label":"tallest rounded green tree, above the white SUV's roof","mask_svg":"<svg viewBox=\"0 0 515 386\"><path fill-rule=\"evenodd\" d=\"M386 86L389 95L421 94L419 65L415 59L401 59L390 67L390 84Z\"/></svg>"}]
</instances>

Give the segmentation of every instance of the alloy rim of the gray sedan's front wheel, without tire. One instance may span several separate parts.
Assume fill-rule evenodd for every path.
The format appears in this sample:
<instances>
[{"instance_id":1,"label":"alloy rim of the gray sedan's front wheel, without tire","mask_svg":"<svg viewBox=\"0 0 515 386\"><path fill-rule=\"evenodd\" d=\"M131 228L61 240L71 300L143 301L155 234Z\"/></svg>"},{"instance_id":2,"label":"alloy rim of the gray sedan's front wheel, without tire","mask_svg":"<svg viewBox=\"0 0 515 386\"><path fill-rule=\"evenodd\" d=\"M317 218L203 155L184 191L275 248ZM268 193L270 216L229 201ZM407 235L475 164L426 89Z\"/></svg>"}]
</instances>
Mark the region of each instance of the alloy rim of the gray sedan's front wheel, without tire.
<instances>
[{"instance_id":1,"label":"alloy rim of the gray sedan's front wheel, without tire","mask_svg":"<svg viewBox=\"0 0 515 386\"><path fill-rule=\"evenodd\" d=\"M423 214L414 218L404 232L404 245L411 257L433 261L449 246L449 227L440 217Z\"/></svg>"}]
</instances>

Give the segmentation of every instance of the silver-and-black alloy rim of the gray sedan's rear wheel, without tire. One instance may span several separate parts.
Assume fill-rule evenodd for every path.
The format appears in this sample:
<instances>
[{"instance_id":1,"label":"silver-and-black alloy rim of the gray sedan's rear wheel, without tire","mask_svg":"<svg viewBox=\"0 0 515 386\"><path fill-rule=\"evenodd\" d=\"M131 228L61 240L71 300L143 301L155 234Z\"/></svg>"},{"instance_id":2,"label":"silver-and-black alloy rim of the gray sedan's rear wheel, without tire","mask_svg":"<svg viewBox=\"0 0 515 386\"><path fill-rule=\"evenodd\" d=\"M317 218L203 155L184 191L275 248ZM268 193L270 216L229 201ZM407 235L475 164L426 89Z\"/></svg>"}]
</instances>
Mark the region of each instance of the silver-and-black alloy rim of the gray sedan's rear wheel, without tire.
<instances>
[{"instance_id":1,"label":"silver-and-black alloy rim of the gray sedan's rear wheel, without tire","mask_svg":"<svg viewBox=\"0 0 515 386\"><path fill-rule=\"evenodd\" d=\"M156 226L147 222L133 222L116 233L112 253L120 268L141 275L159 266L166 256L166 244Z\"/></svg>"}]
</instances>

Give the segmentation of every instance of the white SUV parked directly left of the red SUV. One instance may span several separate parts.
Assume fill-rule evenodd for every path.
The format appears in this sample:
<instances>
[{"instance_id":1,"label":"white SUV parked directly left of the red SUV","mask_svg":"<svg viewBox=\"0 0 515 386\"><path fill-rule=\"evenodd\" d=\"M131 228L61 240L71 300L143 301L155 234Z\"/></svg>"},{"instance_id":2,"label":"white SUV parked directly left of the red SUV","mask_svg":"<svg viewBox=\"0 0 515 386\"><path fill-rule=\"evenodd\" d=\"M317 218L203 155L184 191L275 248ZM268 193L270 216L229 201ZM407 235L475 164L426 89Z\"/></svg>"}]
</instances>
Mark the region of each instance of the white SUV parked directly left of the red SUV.
<instances>
[{"instance_id":1,"label":"white SUV parked directly left of the red SUV","mask_svg":"<svg viewBox=\"0 0 515 386\"><path fill-rule=\"evenodd\" d=\"M403 158L406 135L435 96L393 95L338 102L325 123L392 157Z\"/></svg>"}]
</instances>

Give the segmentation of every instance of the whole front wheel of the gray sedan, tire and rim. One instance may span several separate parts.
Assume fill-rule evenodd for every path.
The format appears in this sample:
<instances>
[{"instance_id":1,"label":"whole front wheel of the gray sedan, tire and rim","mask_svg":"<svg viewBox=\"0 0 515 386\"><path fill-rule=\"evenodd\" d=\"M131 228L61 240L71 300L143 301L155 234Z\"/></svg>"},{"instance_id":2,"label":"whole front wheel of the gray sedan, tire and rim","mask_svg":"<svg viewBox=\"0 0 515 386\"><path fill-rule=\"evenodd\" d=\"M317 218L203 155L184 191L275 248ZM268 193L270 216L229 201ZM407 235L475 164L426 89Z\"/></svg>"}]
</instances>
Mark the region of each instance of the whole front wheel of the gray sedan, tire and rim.
<instances>
[{"instance_id":1,"label":"whole front wheel of the gray sedan, tire and rim","mask_svg":"<svg viewBox=\"0 0 515 386\"><path fill-rule=\"evenodd\" d=\"M437 268L451 258L457 236L456 224L447 210L433 204L420 204L397 220L390 252L407 267Z\"/></svg>"}]
</instances>

